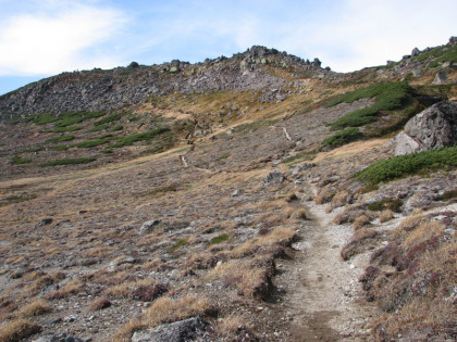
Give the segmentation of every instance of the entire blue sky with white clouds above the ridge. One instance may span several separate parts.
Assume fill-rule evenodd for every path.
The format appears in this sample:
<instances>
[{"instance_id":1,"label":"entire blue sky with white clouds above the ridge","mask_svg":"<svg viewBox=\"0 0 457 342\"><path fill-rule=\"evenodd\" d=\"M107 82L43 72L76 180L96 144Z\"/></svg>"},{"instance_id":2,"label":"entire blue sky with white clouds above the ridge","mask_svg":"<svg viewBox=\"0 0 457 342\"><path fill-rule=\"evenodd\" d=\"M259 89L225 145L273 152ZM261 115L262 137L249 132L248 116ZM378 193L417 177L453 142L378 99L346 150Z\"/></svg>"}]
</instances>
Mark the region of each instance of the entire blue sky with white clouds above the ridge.
<instances>
[{"instance_id":1,"label":"entire blue sky with white clouds above the ridge","mask_svg":"<svg viewBox=\"0 0 457 342\"><path fill-rule=\"evenodd\" d=\"M62 72L252 45L349 72L446 43L456 13L456 0L0 0L0 94Z\"/></svg>"}]
</instances>

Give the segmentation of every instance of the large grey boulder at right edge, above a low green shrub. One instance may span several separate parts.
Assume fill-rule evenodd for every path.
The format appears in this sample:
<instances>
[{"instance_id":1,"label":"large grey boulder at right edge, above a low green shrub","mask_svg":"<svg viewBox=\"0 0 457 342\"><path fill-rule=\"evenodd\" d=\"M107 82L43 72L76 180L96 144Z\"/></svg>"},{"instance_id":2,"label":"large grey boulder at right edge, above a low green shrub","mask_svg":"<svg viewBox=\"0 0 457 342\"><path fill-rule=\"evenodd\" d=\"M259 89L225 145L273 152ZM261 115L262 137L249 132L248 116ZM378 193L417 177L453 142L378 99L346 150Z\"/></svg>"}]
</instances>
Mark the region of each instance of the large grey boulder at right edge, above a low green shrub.
<instances>
[{"instance_id":1,"label":"large grey boulder at right edge, above a low green shrub","mask_svg":"<svg viewBox=\"0 0 457 342\"><path fill-rule=\"evenodd\" d=\"M457 104L443 101L412 117L395 138L395 155L457 143Z\"/></svg>"}]
</instances>

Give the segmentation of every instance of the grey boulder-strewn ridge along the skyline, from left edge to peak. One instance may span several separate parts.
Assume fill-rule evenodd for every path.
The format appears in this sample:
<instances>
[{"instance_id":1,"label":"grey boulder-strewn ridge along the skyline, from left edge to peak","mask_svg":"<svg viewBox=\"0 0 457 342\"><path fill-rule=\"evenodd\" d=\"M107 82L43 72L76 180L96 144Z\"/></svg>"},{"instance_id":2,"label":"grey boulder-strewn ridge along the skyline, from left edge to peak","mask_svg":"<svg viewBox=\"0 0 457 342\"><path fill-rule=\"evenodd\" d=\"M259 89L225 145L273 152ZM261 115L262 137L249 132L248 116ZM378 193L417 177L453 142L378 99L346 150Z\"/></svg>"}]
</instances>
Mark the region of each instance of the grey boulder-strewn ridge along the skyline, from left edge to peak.
<instances>
[{"instance_id":1,"label":"grey boulder-strewn ridge along the skyline, from left edge to peak","mask_svg":"<svg viewBox=\"0 0 457 342\"><path fill-rule=\"evenodd\" d=\"M295 65L299 69L319 72L320 61L305 61L286 52L252 47L231 59L207 59L190 64L174 60L160 65L138 65L114 69L82 71L29 84L0 97L0 121L14 115L62 113L67 111L106 111L141 103L153 96L170 92L195 93L226 90L261 90L270 93L286 81L262 69Z\"/></svg>"}]
</instances>

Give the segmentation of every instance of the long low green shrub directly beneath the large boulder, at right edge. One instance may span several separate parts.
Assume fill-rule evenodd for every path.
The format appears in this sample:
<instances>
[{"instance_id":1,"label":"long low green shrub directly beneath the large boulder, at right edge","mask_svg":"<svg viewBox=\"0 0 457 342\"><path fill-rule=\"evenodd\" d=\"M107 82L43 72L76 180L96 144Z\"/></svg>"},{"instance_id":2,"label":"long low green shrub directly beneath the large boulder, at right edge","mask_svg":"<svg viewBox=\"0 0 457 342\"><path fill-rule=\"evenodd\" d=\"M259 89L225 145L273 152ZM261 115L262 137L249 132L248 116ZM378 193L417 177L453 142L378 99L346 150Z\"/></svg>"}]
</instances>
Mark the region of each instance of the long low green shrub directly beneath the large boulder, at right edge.
<instances>
[{"instance_id":1,"label":"long low green shrub directly beneath the large boulder, at right edge","mask_svg":"<svg viewBox=\"0 0 457 342\"><path fill-rule=\"evenodd\" d=\"M376 185L425 170L446 169L456 166L457 147L453 147L379 161L357 173L356 178L366 183Z\"/></svg>"}]
</instances>

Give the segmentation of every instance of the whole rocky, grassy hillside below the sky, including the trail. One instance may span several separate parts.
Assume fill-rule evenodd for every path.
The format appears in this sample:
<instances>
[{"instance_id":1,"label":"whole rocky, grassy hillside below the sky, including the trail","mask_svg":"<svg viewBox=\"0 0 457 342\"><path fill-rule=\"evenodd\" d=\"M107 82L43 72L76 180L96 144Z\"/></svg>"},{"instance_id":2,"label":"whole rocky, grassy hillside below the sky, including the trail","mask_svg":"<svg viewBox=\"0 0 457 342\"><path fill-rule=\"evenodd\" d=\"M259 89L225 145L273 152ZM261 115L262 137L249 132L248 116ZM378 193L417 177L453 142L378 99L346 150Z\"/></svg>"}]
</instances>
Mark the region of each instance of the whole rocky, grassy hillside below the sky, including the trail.
<instances>
[{"instance_id":1,"label":"whole rocky, grassy hillside below the sky, including the trail","mask_svg":"<svg viewBox=\"0 0 457 342\"><path fill-rule=\"evenodd\" d=\"M455 339L456 63L252 47L0 97L0 340Z\"/></svg>"}]
</instances>

